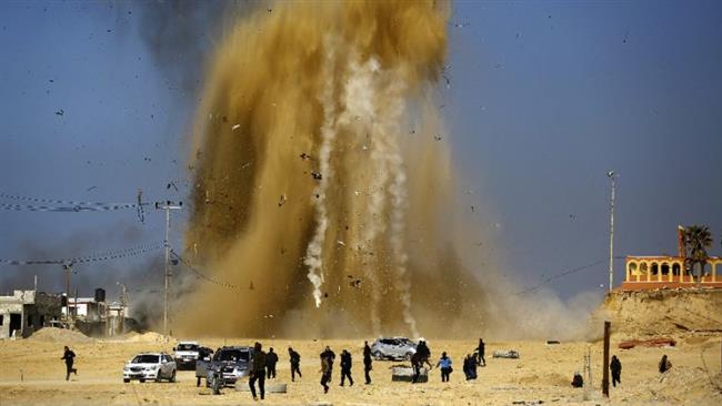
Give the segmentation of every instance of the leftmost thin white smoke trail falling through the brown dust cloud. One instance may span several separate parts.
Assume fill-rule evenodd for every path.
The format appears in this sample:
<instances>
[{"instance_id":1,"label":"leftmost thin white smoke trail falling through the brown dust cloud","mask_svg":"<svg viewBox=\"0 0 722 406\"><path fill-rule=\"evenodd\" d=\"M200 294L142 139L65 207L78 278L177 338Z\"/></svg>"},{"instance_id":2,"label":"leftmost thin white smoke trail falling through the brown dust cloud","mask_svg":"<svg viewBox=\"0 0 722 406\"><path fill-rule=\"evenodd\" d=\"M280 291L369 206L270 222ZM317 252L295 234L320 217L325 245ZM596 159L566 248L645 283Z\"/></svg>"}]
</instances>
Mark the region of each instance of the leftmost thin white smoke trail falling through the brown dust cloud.
<instances>
[{"instance_id":1,"label":"leftmost thin white smoke trail falling through the brown dust cloud","mask_svg":"<svg viewBox=\"0 0 722 406\"><path fill-rule=\"evenodd\" d=\"M335 62L335 43L331 39L324 42L327 53L324 72L327 78L333 78L333 64ZM332 176L331 152L333 151L333 142L335 140L335 105L333 103L333 80L328 80L324 83L323 92L320 95L321 104L323 105L323 125L321 126L321 148L319 150L319 172L321 179L319 185L314 191L313 203L315 205L317 226L313 238L307 248L305 260L303 263L309 266L308 278L313 285L313 301L315 307L321 306L321 285L324 282L323 277L323 244L325 242L325 232L329 226L328 210L325 206L325 192L329 186L329 181Z\"/></svg>"}]
</instances>

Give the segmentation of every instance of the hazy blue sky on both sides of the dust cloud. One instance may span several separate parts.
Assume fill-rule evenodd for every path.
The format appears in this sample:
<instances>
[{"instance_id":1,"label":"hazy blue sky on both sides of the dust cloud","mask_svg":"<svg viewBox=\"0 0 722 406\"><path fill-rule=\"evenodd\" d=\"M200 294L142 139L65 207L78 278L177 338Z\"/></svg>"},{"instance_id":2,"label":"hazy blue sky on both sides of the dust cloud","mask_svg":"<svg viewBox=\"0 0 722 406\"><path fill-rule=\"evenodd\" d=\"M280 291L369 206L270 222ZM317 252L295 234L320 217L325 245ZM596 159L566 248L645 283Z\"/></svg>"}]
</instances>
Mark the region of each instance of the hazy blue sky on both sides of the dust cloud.
<instances>
[{"instance_id":1,"label":"hazy blue sky on both sides of the dust cloud","mask_svg":"<svg viewBox=\"0 0 722 406\"><path fill-rule=\"evenodd\" d=\"M194 98L140 35L142 12L132 2L0 3L1 192L185 199ZM490 230L521 287L606 257L610 169L620 174L619 255L674 253L676 225L692 223L712 227L711 253L722 254L721 20L714 1L454 3L447 139L462 189L487 209L471 222ZM211 50L210 38L199 43ZM162 240L162 215L146 217L0 211L0 257ZM78 272L87 286L110 285L153 266L133 258ZM550 287L563 297L599 290L605 270ZM28 287L32 274L50 291L62 283L54 267L0 272L2 292Z\"/></svg>"}]
</instances>

